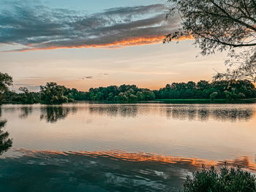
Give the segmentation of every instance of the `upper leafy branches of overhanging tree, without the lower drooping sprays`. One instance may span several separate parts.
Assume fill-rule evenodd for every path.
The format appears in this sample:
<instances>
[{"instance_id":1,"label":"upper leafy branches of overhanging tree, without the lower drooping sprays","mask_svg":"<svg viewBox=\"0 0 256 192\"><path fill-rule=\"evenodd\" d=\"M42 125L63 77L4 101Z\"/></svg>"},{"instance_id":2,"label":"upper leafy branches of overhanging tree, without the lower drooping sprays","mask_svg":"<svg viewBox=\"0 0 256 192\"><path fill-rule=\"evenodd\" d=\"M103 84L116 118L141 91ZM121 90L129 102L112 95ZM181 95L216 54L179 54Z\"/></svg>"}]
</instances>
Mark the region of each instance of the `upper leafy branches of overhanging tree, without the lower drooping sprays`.
<instances>
[{"instance_id":1,"label":"upper leafy branches of overhanging tree, without the lower drooping sprays","mask_svg":"<svg viewBox=\"0 0 256 192\"><path fill-rule=\"evenodd\" d=\"M202 54L233 47L255 46L255 0L168 0L172 3L167 17L178 14L181 26L168 34L165 42L193 37Z\"/></svg>"}]
</instances>

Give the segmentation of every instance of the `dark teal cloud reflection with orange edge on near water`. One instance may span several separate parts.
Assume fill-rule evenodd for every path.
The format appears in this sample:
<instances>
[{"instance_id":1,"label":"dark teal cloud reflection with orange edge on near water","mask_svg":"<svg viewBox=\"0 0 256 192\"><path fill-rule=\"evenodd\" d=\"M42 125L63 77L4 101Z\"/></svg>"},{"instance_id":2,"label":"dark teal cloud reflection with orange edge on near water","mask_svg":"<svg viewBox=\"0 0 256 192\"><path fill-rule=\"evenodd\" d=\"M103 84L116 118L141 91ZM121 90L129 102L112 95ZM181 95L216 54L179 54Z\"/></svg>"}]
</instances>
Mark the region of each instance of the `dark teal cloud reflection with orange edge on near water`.
<instances>
[{"instance_id":1,"label":"dark teal cloud reflection with orange edge on near water","mask_svg":"<svg viewBox=\"0 0 256 192\"><path fill-rule=\"evenodd\" d=\"M187 174L223 162L144 153L18 150L18 158L0 160L4 191L178 191ZM256 170L249 158L227 161ZM17 180L17 175L19 179ZM8 189L8 190L7 190Z\"/></svg>"}]
</instances>

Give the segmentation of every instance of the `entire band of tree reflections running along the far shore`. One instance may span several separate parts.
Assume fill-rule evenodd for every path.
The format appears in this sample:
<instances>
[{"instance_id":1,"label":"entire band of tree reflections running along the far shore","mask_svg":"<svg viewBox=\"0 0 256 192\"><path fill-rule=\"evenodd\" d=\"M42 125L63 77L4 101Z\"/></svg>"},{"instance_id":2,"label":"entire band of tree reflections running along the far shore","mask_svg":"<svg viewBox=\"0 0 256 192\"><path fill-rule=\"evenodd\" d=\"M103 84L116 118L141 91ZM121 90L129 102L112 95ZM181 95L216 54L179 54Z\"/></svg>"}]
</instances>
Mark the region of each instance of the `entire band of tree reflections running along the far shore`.
<instances>
[{"instance_id":1,"label":"entire band of tree reflections running along the far shore","mask_svg":"<svg viewBox=\"0 0 256 192\"><path fill-rule=\"evenodd\" d=\"M161 115L173 120L210 119L220 121L248 121L256 116L253 104L66 104L58 106L18 106L4 107L4 112L19 110L19 118L28 118L34 111L40 110L40 119L48 123L63 120L69 114L89 112L89 115L111 118L137 118L139 116Z\"/></svg>"}]
</instances>

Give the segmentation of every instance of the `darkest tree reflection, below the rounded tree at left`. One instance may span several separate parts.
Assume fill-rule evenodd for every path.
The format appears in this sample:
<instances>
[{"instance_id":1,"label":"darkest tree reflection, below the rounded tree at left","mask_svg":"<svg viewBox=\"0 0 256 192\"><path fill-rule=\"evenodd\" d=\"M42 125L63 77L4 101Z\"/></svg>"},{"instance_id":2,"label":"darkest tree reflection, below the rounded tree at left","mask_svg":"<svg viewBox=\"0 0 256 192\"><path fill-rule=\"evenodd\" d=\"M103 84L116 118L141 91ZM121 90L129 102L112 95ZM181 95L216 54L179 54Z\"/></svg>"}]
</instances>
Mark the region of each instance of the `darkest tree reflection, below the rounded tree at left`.
<instances>
[{"instance_id":1,"label":"darkest tree reflection, below the rounded tree at left","mask_svg":"<svg viewBox=\"0 0 256 192\"><path fill-rule=\"evenodd\" d=\"M70 112L77 112L76 107L42 107L40 119L45 119L49 123L56 123L58 120L67 118Z\"/></svg>"}]
</instances>

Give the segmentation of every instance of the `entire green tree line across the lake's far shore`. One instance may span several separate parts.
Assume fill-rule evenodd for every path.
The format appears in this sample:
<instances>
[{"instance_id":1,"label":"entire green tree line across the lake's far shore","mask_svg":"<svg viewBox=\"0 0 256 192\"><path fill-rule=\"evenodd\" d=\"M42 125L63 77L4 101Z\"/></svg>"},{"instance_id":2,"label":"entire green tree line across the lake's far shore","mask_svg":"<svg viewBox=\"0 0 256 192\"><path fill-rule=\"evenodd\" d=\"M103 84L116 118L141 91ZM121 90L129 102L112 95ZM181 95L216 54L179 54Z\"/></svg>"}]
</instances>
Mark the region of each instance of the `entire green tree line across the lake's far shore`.
<instances>
[{"instance_id":1,"label":"entire green tree line across the lake's far shore","mask_svg":"<svg viewBox=\"0 0 256 192\"><path fill-rule=\"evenodd\" d=\"M40 86L39 92L29 92L26 87L20 93L10 91L12 77L0 72L0 103L22 104L62 104L73 101L152 101L155 99L253 99L256 98L255 85L249 80L220 80L208 82L173 82L165 88L151 91L136 85L111 85L78 91L66 88L56 82Z\"/></svg>"}]
</instances>

